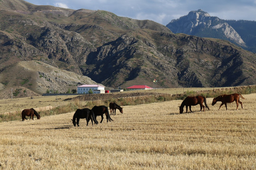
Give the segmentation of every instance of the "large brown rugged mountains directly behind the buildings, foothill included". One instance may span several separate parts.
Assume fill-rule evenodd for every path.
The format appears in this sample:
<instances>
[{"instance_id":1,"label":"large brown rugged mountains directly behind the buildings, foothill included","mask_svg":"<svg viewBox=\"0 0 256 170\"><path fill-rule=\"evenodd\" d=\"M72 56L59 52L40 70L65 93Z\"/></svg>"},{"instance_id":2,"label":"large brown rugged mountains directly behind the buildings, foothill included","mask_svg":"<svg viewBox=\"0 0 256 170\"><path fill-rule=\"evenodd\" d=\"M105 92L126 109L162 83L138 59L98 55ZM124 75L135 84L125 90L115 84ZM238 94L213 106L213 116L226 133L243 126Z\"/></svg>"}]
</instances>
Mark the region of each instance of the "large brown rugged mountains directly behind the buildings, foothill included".
<instances>
[{"instance_id":1,"label":"large brown rugged mountains directly behind the buildings, foothill included","mask_svg":"<svg viewBox=\"0 0 256 170\"><path fill-rule=\"evenodd\" d=\"M64 93L85 81L126 88L150 86L154 79L163 88L256 84L256 54L229 41L174 34L154 21L108 11L24 0L0 0L0 14L1 91L22 86L39 94L47 88ZM40 67L26 68L28 63ZM29 71L10 74L18 66ZM68 72L58 76L60 70ZM76 80L63 78L71 73ZM39 81L49 75L50 84Z\"/></svg>"}]
</instances>

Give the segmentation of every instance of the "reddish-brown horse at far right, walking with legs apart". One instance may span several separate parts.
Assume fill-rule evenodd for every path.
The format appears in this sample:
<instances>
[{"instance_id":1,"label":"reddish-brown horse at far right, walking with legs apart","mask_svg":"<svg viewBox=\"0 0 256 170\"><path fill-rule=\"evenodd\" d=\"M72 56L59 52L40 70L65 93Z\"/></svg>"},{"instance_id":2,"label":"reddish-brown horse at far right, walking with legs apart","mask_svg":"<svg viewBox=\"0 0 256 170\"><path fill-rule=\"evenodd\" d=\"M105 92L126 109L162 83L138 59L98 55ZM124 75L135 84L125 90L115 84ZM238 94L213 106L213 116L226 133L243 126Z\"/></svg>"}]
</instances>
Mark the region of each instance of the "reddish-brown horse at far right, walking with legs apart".
<instances>
[{"instance_id":1,"label":"reddish-brown horse at far right, walking with legs apart","mask_svg":"<svg viewBox=\"0 0 256 170\"><path fill-rule=\"evenodd\" d=\"M234 94L223 94L223 95L219 95L218 97L216 98L213 98L212 100L212 103L211 105L213 106L216 102L222 102L219 106L219 110L220 110L220 107L225 104L226 106L226 110L228 110L227 108L227 102L228 103L231 103L231 102L234 102L236 101L237 103L237 110L238 110L238 102L241 104L241 107L243 109L243 103L239 101L239 98L242 98L242 99L245 99L241 94L238 94L238 93L234 93Z\"/></svg>"}]
</instances>

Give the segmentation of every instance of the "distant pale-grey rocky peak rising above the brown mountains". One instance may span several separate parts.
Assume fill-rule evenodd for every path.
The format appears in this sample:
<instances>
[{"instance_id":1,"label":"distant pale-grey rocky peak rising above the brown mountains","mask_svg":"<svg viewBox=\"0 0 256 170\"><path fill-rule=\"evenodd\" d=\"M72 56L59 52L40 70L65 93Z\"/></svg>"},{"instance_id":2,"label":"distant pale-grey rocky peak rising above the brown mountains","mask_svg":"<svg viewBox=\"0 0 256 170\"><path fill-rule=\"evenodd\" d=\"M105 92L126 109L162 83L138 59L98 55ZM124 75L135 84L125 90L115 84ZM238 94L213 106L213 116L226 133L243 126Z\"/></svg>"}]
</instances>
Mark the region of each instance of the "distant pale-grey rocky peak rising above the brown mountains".
<instances>
[{"instance_id":1,"label":"distant pale-grey rocky peak rising above the brown mountains","mask_svg":"<svg viewBox=\"0 0 256 170\"><path fill-rule=\"evenodd\" d=\"M246 47L241 36L225 20L211 17L201 9L191 11L187 16L179 19L174 19L166 26L174 33L219 38Z\"/></svg>"}]
</instances>

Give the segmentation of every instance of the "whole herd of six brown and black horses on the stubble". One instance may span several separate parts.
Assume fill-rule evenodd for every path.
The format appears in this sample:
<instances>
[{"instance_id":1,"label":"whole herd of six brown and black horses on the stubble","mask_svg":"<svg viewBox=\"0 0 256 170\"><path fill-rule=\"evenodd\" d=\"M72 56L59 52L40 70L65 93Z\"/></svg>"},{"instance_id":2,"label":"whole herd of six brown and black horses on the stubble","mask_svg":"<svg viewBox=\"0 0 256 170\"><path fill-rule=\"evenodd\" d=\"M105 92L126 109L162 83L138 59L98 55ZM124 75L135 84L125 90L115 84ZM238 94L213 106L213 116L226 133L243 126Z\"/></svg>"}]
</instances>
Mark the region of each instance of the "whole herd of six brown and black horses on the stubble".
<instances>
[{"instance_id":1,"label":"whole herd of six brown and black horses on the stubble","mask_svg":"<svg viewBox=\"0 0 256 170\"><path fill-rule=\"evenodd\" d=\"M236 101L237 103L237 110L238 110L238 103L241 104L241 107L243 109L243 103L239 100L240 97L242 99L245 99L241 94L238 93L233 93L233 94L223 94L223 95L219 95L218 97L213 98L211 105L213 106L214 104L216 104L216 102L221 102L220 106L219 106L219 110L220 107L225 104L226 106L226 110L228 110L227 108L227 103L231 103ZM205 106L203 105L203 103L205 104ZM191 110L191 106L195 106L195 105L200 105L200 111L203 109L203 111L205 111L205 107L210 110L210 108L208 107L207 103L206 103L206 98L203 96L188 96L186 97L183 102L181 103L181 106L179 106L180 108L180 113L183 113L183 108L184 106L186 106L186 113L188 112L188 107L189 110L191 112L193 112ZM73 115L73 125L74 126L79 126L79 120L80 119L86 119L86 126L88 126L89 121L91 120L91 123L93 125L93 121L95 124L98 124L99 122L97 121L97 116L101 116L101 122L103 120L103 115L106 115L106 119L107 122L109 121L113 121L113 119L110 118L110 114L111 115L116 115L116 110L119 110L120 113L123 113L123 108L121 108L117 103L115 102L110 102L110 113L109 113L109 109L107 106L101 105L101 106L94 106L92 109L88 109L88 108L84 108L84 109L77 109ZM24 121L26 118L26 116L30 116L30 119L34 120L34 115L37 116L37 119L40 119L40 115L37 113L36 110L34 110L33 108L31 109L24 109L21 112L21 118L22 121ZM29 119L29 120L30 120Z\"/></svg>"}]
</instances>

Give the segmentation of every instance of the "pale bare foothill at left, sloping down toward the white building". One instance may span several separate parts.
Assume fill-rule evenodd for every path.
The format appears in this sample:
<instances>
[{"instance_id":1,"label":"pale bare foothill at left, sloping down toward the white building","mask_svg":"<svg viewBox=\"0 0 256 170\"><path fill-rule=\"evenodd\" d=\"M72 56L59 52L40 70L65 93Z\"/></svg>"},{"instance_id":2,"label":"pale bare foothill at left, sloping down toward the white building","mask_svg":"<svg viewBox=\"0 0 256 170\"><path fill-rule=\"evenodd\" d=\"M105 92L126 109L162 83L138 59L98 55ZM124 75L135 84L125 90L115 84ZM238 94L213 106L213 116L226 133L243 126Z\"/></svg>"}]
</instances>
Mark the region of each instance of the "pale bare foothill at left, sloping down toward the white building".
<instances>
[{"instance_id":1,"label":"pale bare foothill at left, sloping down toward the white building","mask_svg":"<svg viewBox=\"0 0 256 170\"><path fill-rule=\"evenodd\" d=\"M31 60L20 61L0 72L0 84L2 85L0 99L9 99L11 93L6 92L10 92L10 87L13 91L22 89L17 95L13 95L13 98L18 98L32 97L35 93L42 94L47 90L66 93L68 89L70 91L77 90L77 85L97 83L87 76L55 68L41 61ZM27 93L28 91L34 92L34 95Z\"/></svg>"}]
</instances>

